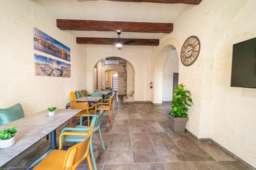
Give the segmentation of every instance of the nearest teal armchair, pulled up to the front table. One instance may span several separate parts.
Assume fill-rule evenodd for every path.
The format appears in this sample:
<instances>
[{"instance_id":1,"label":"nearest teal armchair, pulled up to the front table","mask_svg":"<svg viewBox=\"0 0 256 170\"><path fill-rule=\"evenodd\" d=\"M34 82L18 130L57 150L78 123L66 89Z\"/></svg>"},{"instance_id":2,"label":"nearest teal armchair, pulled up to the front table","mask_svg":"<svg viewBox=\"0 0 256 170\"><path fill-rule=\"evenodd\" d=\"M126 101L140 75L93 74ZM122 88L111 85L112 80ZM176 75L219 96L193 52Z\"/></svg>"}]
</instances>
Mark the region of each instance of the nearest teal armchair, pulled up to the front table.
<instances>
[{"instance_id":1,"label":"nearest teal armchair, pulled up to the front table","mask_svg":"<svg viewBox=\"0 0 256 170\"><path fill-rule=\"evenodd\" d=\"M92 115L92 114L83 114L83 115L81 115L80 125L77 125L74 128L64 128L61 131L61 133L65 132L65 131L88 132L90 127L82 125L82 117L87 117L87 116L93 117L91 123L93 124L94 128L93 128L93 133L91 135L90 152L91 152L91 155L92 155L94 169L97 170L96 160L95 160L94 152L93 152L93 134L97 131L99 132L99 136L100 136L100 140L101 140L101 144L102 144L102 149L105 150L104 142L103 142L101 131L100 131L100 120L101 120L101 117L103 116L103 110L100 110L98 115ZM62 142L81 142L86 138L87 138L86 136L65 136L65 137L62 137Z\"/></svg>"}]
</instances>

